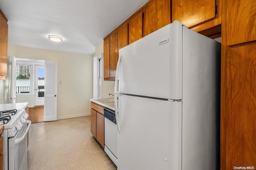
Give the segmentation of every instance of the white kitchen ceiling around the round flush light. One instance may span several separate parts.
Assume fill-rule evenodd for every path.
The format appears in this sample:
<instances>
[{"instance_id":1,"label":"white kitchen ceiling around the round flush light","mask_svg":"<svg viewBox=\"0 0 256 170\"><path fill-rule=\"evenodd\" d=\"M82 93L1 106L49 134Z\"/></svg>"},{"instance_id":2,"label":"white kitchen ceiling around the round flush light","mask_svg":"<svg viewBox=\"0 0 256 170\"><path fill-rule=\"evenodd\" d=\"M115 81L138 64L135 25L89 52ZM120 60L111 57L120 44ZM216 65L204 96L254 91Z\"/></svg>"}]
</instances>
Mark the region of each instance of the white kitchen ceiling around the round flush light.
<instances>
[{"instance_id":1,"label":"white kitchen ceiling around the round flush light","mask_svg":"<svg viewBox=\"0 0 256 170\"><path fill-rule=\"evenodd\" d=\"M8 43L92 55L95 47L148 0L0 0ZM48 35L58 35L53 42Z\"/></svg>"}]
</instances>

